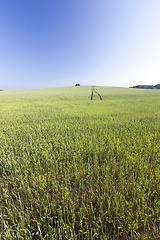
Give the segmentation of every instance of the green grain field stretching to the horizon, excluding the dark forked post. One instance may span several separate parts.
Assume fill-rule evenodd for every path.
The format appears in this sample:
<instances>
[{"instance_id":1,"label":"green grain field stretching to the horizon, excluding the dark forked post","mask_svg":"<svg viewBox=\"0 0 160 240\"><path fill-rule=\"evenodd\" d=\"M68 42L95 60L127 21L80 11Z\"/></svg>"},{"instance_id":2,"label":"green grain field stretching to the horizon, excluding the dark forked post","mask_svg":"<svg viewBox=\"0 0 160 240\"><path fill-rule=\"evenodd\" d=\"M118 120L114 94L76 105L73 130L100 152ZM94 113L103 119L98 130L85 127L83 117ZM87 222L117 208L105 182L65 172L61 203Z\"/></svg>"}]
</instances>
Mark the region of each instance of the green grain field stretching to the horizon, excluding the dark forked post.
<instances>
[{"instance_id":1,"label":"green grain field stretching to the horizon, excluding the dark forked post","mask_svg":"<svg viewBox=\"0 0 160 240\"><path fill-rule=\"evenodd\" d=\"M0 92L0 239L160 239L160 90Z\"/></svg>"}]
</instances>

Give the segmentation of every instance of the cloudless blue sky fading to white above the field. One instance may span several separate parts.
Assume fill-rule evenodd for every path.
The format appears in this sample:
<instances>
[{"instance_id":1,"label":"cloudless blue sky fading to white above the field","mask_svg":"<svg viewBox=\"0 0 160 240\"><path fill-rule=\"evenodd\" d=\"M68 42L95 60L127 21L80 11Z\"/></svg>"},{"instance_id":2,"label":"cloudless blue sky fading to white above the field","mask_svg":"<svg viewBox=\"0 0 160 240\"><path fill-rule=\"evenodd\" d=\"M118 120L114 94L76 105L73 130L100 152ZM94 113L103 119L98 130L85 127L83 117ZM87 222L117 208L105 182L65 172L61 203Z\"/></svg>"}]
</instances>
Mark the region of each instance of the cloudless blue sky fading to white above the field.
<instances>
[{"instance_id":1,"label":"cloudless blue sky fading to white above the field","mask_svg":"<svg viewBox=\"0 0 160 240\"><path fill-rule=\"evenodd\" d=\"M160 0L0 0L0 89L160 84Z\"/></svg>"}]
</instances>

